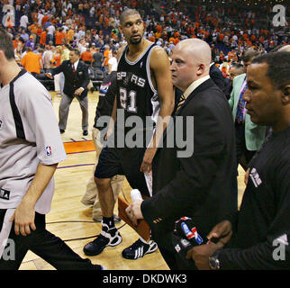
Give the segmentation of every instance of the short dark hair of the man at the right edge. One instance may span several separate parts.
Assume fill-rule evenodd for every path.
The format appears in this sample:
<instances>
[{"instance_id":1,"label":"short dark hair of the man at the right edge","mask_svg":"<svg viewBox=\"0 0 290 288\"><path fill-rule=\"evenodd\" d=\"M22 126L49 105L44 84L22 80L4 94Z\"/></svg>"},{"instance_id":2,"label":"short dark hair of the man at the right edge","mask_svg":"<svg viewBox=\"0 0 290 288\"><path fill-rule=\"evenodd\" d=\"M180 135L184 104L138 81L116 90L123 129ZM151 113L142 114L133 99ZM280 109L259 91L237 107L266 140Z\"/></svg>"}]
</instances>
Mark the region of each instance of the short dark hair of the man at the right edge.
<instances>
[{"instance_id":1,"label":"short dark hair of the man at the right edge","mask_svg":"<svg viewBox=\"0 0 290 288\"><path fill-rule=\"evenodd\" d=\"M262 54L254 58L251 64L267 63L267 76L272 80L277 89L290 85L290 52L277 51Z\"/></svg>"}]
</instances>

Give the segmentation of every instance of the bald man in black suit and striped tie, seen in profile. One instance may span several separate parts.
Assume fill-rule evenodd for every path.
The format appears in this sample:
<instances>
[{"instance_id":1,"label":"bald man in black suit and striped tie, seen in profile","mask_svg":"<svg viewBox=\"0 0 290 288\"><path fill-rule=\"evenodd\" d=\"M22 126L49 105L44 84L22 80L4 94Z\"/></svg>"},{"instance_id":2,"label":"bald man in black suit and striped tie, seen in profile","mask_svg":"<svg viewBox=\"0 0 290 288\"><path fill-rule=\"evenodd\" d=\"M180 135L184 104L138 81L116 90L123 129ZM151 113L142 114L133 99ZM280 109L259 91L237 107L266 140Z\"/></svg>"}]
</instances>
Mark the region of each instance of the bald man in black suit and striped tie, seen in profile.
<instances>
[{"instance_id":1,"label":"bald man in black suit and striped tie, seen in profile","mask_svg":"<svg viewBox=\"0 0 290 288\"><path fill-rule=\"evenodd\" d=\"M153 196L128 207L131 220L144 218L171 269L187 269L171 241L175 221L193 217L201 234L224 213L237 210L236 159L231 109L209 76L211 49L199 39L182 40L172 53L172 82L183 91L173 125L164 139L183 131L187 147L159 148L153 170ZM194 126L190 125L194 123ZM183 137L182 137L183 136ZM171 146L172 147L172 146ZM186 152L187 150L187 152ZM189 152L192 153L189 153ZM166 168L165 168L166 167ZM153 166L154 168L154 166ZM192 266L192 265L191 265Z\"/></svg>"}]
</instances>

